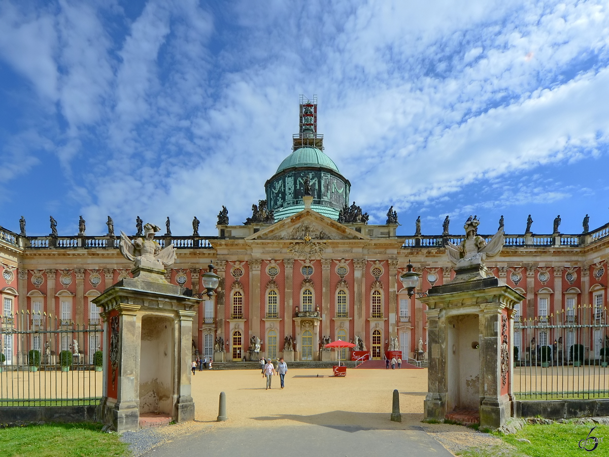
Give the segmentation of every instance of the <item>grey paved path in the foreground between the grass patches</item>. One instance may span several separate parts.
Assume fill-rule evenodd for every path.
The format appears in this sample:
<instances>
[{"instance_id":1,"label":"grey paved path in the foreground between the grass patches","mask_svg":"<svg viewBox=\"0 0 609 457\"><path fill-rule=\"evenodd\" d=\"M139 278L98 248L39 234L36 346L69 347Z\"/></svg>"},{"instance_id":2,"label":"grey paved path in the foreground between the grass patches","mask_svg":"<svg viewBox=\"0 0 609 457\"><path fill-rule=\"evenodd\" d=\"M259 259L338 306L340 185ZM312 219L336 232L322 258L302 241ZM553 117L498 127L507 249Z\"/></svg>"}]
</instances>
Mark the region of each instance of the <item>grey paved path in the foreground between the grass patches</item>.
<instances>
[{"instance_id":1,"label":"grey paved path in the foreground between the grass patches","mask_svg":"<svg viewBox=\"0 0 609 457\"><path fill-rule=\"evenodd\" d=\"M181 436L144 457L213 456L417 456L452 457L417 426L371 430L351 425L275 425L214 428Z\"/></svg>"}]
</instances>

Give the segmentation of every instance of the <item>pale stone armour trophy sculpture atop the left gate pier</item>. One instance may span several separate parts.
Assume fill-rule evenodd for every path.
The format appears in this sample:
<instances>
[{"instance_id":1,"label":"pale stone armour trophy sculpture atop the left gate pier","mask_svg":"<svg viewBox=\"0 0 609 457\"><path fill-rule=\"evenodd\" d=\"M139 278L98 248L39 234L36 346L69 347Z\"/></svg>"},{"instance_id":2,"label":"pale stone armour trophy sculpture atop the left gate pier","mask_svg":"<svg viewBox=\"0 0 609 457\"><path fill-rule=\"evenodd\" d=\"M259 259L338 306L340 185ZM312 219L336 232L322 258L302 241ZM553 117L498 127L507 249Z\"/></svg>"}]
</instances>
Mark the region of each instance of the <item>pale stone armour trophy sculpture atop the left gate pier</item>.
<instances>
[{"instance_id":1,"label":"pale stone armour trophy sculpture atop the left gate pier","mask_svg":"<svg viewBox=\"0 0 609 457\"><path fill-rule=\"evenodd\" d=\"M150 267L156 269L164 269L170 266L175 260L174 245L161 249L160 244L154 241L154 235L161 229L154 224L144 225L144 237L136 238L133 243L125 232L121 231L121 244L119 249L121 254L127 260L133 262L134 267Z\"/></svg>"}]
</instances>

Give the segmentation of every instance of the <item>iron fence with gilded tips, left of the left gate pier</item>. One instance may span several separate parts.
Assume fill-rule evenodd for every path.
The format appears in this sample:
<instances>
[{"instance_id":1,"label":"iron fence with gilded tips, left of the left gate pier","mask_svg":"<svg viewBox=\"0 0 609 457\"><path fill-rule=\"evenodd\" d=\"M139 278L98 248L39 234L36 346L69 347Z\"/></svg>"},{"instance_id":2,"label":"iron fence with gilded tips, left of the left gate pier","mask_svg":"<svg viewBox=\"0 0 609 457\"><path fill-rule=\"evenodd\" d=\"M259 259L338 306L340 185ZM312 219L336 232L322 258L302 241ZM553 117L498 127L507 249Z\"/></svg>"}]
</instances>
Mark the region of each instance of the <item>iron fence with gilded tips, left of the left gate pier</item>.
<instances>
[{"instance_id":1,"label":"iron fence with gilded tips, left of the left gate pier","mask_svg":"<svg viewBox=\"0 0 609 457\"><path fill-rule=\"evenodd\" d=\"M46 313L0 316L0 406L73 406L102 396L99 319Z\"/></svg>"}]
</instances>

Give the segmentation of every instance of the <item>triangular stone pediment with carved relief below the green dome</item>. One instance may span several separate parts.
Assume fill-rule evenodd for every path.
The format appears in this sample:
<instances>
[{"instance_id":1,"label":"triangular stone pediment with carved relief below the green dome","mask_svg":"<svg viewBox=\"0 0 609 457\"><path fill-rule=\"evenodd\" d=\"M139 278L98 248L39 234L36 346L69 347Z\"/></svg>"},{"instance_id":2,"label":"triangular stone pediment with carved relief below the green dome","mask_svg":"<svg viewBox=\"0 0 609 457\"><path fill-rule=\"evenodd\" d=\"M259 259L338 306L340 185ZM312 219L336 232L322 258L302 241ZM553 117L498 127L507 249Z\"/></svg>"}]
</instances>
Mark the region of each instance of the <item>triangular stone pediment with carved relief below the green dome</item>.
<instances>
[{"instance_id":1,"label":"triangular stone pediment with carved relief below the green dome","mask_svg":"<svg viewBox=\"0 0 609 457\"><path fill-rule=\"evenodd\" d=\"M248 241L253 240L297 240L305 239L309 236L311 239L361 239L369 240L370 237L362 235L355 230L346 227L334 219L326 218L322 214L317 213L309 208L294 214L290 218L276 222L270 227L256 232L253 235L245 238Z\"/></svg>"}]
</instances>

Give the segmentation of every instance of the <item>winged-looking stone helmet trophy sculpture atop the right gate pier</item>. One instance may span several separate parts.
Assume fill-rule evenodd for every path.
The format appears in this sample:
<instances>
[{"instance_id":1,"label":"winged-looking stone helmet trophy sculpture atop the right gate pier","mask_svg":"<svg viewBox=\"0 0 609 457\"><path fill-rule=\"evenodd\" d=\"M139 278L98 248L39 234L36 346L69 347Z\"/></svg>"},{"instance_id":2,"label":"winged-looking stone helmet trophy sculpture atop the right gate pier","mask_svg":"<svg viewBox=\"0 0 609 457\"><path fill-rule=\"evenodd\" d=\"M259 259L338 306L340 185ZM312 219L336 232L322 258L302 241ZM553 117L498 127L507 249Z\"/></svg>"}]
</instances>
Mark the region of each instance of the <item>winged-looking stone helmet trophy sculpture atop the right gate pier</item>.
<instances>
[{"instance_id":1,"label":"winged-looking stone helmet trophy sculpture atop the right gate pier","mask_svg":"<svg viewBox=\"0 0 609 457\"><path fill-rule=\"evenodd\" d=\"M494 257L501 252L505 243L503 227L499 228L487 244L484 238L477 234L478 225L480 225L480 221L476 219L476 216L474 218L470 216L463 225L465 239L459 243L459 246L448 242L446 252L448 253L448 260L455 264L455 270L470 266L484 266L484 260L487 257Z\"/></svg>"}]
</instances>

